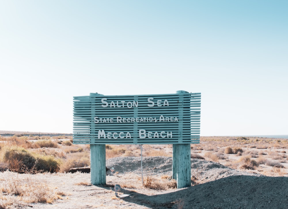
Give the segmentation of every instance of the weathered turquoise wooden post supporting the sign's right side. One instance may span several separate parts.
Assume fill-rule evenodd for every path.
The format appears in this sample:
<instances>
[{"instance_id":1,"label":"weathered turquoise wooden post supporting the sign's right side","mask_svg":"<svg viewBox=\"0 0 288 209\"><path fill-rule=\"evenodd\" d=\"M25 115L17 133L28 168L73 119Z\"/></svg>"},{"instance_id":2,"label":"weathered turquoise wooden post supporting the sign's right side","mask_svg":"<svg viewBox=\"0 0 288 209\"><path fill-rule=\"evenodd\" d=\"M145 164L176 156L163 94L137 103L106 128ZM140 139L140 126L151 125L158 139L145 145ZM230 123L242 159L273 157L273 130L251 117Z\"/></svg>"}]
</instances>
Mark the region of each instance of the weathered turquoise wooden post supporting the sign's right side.
<instances>
[{"instance_id":1,"label":"weathered turquoise wooden post supporting the sign's right side","mask_svg":"<svg viewBox=\"0 0 288 209\"><path fill-rule=\"evenodd\" d=\"M189 93L177 91L177 94ZM180 108L183 117L183 108ZM179 118L180 121L181 118ZM180 122L179 122L180 123ZM183 127L183 124L179 127ZM179 130L181 131L181 130ZM173 144L173 167L172 178L177 180L177 189L191 186L191 151L190 144Z\"/></svg>"}]
</instances>

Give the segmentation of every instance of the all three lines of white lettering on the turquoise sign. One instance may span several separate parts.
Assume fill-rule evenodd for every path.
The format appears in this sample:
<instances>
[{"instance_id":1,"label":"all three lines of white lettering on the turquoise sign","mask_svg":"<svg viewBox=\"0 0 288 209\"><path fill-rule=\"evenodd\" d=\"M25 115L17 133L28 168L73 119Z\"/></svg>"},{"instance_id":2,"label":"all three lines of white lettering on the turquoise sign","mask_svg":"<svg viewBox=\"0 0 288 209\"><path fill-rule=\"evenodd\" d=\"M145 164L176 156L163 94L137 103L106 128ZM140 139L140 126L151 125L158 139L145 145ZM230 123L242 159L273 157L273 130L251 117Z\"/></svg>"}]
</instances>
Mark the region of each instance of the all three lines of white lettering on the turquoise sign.
<instances>
[{"instance_id":1,"label":"all three lines of white lettering on the turquoise sign","mask_svg":"<svg viewBox=\"0 0 288 209\"><path fill-rule=\"evenodd\" d=\"M121 101L107 101L107 98L102 98L101 99L101 107L103 108L134 108L134 107L138 107L139 106L139 102L136 100L133 101L125 101L125 100L121 100ZM147 107L168 107L169 106L169 102L167 99L164 100L154 100L153 97L149 97L147 98ZM122 124L122 123L156 123L156 122L178 122L179 118L175 117L175 116L163 116L160 115L158 117L123 117L123 116L116 116L114 117L98 117L95 116L94 117L94 123L95 124L101 124L101 123L116 123L116 124ZM120 132L105 132L104 129L102 130L98 130L98 139L100 139L101 137L103 137L104 139L131 139L131 134L129 132L124 133L123 131ZM172 131L146 131L145 129L139 129L139 138L140 139L145 139L145 138L149 138L149 139L153 139L153 138L172 138L173 137L173 133Z\"/></svg>"}]
</instances>

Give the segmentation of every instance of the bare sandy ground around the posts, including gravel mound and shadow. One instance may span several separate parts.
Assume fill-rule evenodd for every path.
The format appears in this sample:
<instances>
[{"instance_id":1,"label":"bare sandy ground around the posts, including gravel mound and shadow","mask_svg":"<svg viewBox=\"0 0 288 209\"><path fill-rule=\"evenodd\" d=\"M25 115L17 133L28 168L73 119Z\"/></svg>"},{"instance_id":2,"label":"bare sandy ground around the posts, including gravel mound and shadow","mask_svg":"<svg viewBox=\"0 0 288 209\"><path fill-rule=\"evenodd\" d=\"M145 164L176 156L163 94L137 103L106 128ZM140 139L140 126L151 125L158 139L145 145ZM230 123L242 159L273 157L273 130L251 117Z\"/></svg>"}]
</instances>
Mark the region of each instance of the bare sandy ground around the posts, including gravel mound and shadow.
<instances>
[{"instance_id":1,"label":"bare sandy ground around the posts, including gravel mound and shadow","mask_svg":"<svg viewBox=\"0 0 288 209\"><path fill-rule=\"evenodd\" d=\"M237 171L224 165L191 159L191 173L197 184L183 189L146 189L141 182L139 157L107 160L114 166L107 172L104 186L90 184L90 173L39 173L36 175L0 173L18 181L44 182L52 193L62 194L52 204L26 204L21 208L287 208L288 178L268 177ZM161 179L172 176L171 157L143 158L143 175ZM5 177L6 176L6 177ZM31 177L32 176L32 177ZM115 195L114 185L122 189Z\"/></svg>"}]
</instances>

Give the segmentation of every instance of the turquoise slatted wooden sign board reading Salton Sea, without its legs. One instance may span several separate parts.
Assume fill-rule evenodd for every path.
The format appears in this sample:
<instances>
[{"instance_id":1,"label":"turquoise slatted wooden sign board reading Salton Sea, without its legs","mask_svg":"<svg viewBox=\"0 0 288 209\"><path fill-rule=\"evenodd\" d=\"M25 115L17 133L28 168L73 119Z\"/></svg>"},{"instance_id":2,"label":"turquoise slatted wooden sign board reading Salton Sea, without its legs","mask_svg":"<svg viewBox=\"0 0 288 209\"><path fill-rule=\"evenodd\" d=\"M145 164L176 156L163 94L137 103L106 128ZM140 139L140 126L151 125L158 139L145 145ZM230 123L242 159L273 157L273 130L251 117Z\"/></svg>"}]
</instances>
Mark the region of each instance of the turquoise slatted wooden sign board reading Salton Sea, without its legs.
<instances>
[{"instance_id":1,"label":"turquoise slatted wooden sign board reading Salton Sea, without its legs","mask_svg":"<svg viewBox=\"0 0 288 209\"><path fill-rule=\"evenodd\" d=\"M201 93L73 99L75 144L199 143Z\"/></svg>"}]
</instances>

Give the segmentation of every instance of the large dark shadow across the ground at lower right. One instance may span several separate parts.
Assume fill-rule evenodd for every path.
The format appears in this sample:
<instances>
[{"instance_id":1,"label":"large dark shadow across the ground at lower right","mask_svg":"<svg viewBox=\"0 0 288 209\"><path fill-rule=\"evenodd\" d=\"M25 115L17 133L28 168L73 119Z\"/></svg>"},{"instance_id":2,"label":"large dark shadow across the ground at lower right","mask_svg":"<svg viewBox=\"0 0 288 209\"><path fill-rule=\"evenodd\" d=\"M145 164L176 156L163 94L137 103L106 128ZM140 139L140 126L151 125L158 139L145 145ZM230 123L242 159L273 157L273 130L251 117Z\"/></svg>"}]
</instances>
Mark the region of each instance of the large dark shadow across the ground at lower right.
<instances>
[{"instance_id":1,"label":"large dark shadow across the ground at lower right","mask_svg":"<svg viewBox=\"0 0 288 209\"><path fill-rule=\"evenodd\" d=\"M110 189L109 185L109 189ZM114 186L114 185L112 185ZM108 189L105 186L101 186ZM148 208L287 208L288 178L229 176L160 195L121 189L121 199Z\"/></svg>"}]
</instances>

